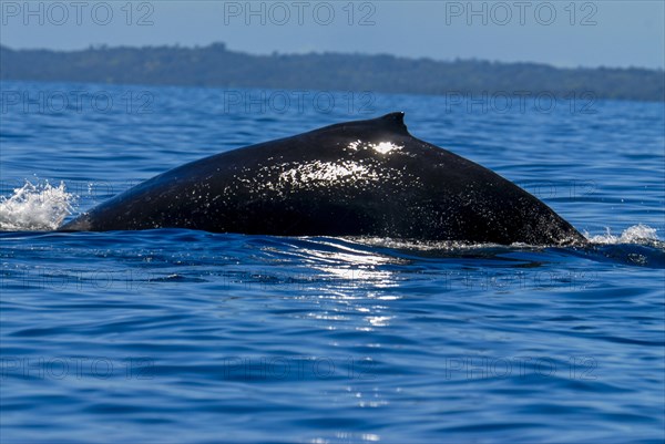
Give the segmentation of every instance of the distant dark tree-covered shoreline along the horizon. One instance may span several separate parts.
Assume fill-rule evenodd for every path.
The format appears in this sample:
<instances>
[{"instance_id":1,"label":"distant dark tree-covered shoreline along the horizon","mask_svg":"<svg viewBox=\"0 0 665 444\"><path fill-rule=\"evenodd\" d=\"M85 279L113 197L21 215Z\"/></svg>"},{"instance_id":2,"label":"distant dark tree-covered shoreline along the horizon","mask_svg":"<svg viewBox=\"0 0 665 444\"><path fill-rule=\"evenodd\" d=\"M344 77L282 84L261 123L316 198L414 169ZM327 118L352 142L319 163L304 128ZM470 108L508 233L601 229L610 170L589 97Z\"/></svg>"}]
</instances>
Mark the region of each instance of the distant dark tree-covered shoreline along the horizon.
<instances>
[{"instance_id":1,"label":"distant dark tree-covered shoreline along the horizon","mask_svg":"<svg viewBox=\"0 0 665 444\"><path fill-rule=\"evenodd\" d=\"M549 94L665 101L665 72L554 68L540 63L434 61L393 55L253 55L207 47L95 47L79 51L0 47L0 80L406 94Z\"/></svg>"}]
</instances>

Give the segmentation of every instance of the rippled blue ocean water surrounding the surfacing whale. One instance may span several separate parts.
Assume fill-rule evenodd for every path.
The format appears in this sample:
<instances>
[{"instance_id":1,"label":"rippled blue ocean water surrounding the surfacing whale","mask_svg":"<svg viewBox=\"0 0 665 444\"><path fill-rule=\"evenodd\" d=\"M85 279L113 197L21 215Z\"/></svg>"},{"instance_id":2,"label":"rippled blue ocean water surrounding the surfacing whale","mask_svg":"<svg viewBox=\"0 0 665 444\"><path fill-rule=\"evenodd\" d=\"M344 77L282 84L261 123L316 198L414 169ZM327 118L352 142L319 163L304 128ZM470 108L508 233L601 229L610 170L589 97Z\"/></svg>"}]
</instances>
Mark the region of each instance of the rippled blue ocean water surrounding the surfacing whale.
<instances>
[{"instance_id":1,"label":"rippled blue ocean water surrounding the surfacing whale","mask_svg":"<svg viewBox=\"0 0 665 444\"><path fill-rule=\"evenodd\" d=\"M663 103L3 82L0 106L0 442L665 440ZM391 111L593 246L49 230Z\"/></svg>"}]
</instances>

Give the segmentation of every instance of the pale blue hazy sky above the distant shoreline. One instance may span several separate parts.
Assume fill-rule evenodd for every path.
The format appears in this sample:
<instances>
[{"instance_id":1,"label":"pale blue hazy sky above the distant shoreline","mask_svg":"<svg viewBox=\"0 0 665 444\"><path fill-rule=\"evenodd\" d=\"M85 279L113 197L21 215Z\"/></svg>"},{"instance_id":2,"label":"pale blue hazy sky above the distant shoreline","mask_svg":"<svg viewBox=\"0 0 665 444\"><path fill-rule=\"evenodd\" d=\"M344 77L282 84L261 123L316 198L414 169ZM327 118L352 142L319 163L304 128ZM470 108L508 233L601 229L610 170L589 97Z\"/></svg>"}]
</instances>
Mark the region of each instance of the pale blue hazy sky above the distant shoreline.
<instances>
[{"instance_id":1,"label":"pale blue hazy sky above the distant shoreline","mask_svg":"<svg viewBox=\"0 0 665 444\"><path fill-rule=\"evenodd\" d=\"M10 48L206 45L665 65L665 1L0 1Z\"/></svg>"}]
</instances>

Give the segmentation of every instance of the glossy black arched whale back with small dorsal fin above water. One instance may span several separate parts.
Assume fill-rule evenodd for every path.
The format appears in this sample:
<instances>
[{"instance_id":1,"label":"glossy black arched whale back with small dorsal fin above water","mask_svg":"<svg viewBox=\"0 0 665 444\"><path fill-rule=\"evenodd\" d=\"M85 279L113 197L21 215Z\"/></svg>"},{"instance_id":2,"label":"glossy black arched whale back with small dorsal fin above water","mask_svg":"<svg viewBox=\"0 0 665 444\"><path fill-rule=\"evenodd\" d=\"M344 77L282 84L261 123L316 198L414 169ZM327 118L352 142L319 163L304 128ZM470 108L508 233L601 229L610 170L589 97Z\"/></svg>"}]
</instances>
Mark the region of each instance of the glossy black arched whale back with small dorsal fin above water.
<instances>
[{"instance_id":1,"label":"glossy black arched whale back with small dorsal fin above water","mask_svg":"<svg viewBox=\"0 0 665 444\"><path fill-rule=\"evenodd\" d=\"M415 138L403 113L217 154L153 177L61 230L191 228L584 244L545 204L498 174Z\"/></svg>"}]
</instances>

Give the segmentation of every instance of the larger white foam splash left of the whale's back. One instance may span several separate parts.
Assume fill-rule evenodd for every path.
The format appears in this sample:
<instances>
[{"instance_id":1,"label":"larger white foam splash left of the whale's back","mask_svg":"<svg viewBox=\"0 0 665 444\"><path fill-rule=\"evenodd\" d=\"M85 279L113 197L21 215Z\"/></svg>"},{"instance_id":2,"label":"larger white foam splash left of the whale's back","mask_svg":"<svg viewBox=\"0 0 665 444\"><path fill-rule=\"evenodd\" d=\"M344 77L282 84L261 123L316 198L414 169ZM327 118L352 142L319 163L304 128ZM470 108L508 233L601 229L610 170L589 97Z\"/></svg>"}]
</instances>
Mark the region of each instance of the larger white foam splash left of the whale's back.
<instances>
[{"instance_id":1,"label":"larger white foam splash left of the whale's back","mask_svg":"<svg viewBox=\"0 0 665 444\"><path fill-rule=\"evenodd\" d=\"M44 231L58 228L73 210L76 196L64 183L54 187L45 180L16 188L13 195L0 196L1 231Z\"/></svg>"}]
</instances>

